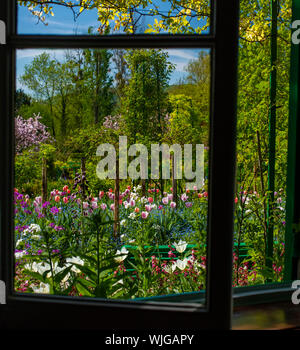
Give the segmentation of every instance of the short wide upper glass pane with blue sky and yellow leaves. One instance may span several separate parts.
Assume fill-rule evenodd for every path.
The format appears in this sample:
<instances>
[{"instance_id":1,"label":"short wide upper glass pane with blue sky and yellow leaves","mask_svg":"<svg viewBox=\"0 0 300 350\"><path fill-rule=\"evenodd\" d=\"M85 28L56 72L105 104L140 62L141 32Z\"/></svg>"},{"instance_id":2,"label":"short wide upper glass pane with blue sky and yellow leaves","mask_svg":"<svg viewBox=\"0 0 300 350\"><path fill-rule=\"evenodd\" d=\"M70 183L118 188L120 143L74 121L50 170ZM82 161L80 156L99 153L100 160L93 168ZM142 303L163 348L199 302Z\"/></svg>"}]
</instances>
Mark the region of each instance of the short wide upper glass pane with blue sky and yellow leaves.
<instances>
[{"instance_id":1,"label":"short wide upper glass pane with blue sky and yellow leaves","mask_svg":"<svg viewBox=\"0 0 300 350\"><path fill-rule=\"evenodd\" d=\"M18 1L19 34L208 34L210 1Z\"/></svg>"}]
</instances>

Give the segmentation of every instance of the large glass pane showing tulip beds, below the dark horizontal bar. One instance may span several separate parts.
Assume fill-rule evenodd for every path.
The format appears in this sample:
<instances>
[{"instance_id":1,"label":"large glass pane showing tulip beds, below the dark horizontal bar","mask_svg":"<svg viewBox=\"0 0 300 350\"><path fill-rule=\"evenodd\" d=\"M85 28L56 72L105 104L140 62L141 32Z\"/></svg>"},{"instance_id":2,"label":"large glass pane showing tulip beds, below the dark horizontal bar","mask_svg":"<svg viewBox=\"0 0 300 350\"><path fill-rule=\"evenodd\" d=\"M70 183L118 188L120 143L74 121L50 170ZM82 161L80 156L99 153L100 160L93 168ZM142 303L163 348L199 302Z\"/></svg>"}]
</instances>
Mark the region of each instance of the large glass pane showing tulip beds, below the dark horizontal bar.
<instances>
[{"instance_id":1,"label":"large glass pane showing tulip beds, below the dark horizontal bar","mask_svg":"<svg viewBox=\"0 0 300 350\"><path fill-rule=\"evenodd\" d=\"M17 51L16 291L204 301L209 91L209 50Z\"/></svg>"}]
</instances>

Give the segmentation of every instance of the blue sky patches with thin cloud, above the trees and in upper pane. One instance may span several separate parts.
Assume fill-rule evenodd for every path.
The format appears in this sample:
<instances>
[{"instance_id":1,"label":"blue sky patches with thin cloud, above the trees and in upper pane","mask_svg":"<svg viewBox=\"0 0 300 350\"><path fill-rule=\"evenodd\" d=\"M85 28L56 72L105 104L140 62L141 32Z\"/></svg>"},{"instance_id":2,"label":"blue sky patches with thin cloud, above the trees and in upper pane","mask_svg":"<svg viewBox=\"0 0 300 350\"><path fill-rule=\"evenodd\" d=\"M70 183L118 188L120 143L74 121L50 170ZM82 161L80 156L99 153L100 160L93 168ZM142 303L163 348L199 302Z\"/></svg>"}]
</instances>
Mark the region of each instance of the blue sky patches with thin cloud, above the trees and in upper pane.
<instances>
[{"instance_id":1,"label":"blue sky patches with thin cloud, above the trees and in upper pane","mask_svg":"<svg viewBox=\"0 0 300 350\"><path fill-rule=\"evenodd\" d=\"M97 28L97 13L94 11L83 12L79 18L74 21L70 10L58 6L54 9L54 17L47 19L48 25L38 23L37 19L27 10L20 6L18 9L18 33L19 34L56 34L56 35L76 35L87 34L90 26ZM169 60L176 65L171 76L170 84L176 84L184 78L187 73L185 67L189 60L198 56L200 49L167 49ZM19 82L19 77L24 73L26 64L30 64L33 58L42 52L49 52L57 60L64 59L64 50L42 50L27 49L17 51L17 89L22 88L25 92L30 91Z\"/></svg>"}]
</instances>

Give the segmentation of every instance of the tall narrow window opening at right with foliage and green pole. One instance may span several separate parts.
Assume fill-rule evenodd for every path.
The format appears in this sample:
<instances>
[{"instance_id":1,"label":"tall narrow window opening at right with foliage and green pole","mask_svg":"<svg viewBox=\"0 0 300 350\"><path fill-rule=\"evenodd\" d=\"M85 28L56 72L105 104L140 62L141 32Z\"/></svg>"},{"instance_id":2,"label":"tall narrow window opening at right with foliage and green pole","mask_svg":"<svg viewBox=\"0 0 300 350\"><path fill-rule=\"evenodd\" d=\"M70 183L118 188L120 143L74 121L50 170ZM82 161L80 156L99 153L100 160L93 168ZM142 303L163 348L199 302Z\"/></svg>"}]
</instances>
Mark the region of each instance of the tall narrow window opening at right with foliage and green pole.
<instances>
[{"instance_id":1,"label":"tall narrow window opening at right with foliage and green pole","mask_svg":"<svg viewBox=\"0 0 300 350\"><path fill-rule=\"evenodd\" d=\"M274 11L271 44L271 6L241 2L234 286L284 274L290 3Z\"/></svg>"}]
</instances>

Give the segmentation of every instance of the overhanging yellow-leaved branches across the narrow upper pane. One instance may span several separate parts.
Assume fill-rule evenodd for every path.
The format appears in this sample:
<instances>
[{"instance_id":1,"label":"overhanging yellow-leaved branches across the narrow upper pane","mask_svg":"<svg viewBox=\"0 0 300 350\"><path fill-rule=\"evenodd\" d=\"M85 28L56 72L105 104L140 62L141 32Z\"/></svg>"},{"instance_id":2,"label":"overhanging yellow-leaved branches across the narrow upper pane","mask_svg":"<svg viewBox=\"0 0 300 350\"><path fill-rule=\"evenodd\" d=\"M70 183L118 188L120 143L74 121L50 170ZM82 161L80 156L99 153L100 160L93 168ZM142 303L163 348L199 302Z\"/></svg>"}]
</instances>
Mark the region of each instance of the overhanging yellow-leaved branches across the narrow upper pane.
<instances>
[{"instance_id":1,"label":"overhanging yellow-leaved branches across the narrow upper pane","mask_svg":"<svg viewBox=\"0 0 300 350\"><path fill-rule=\"evenodd\" d=\"M163 6L162 3L163 2ZM113 31L124 31L132 34L143 20L148 24L146 33L201 33L209 26L210 1L209 0L18 0L21 6L28 10L40 21L46 22L47 16L53 16L53 6L61 5L73 11L77 18L83 11L97 9L100 33L105 33L113 25ZM196 25L195 25L196 23ZM202 23L201 26L198 23Z\"/></svg>"}]
</instances>

